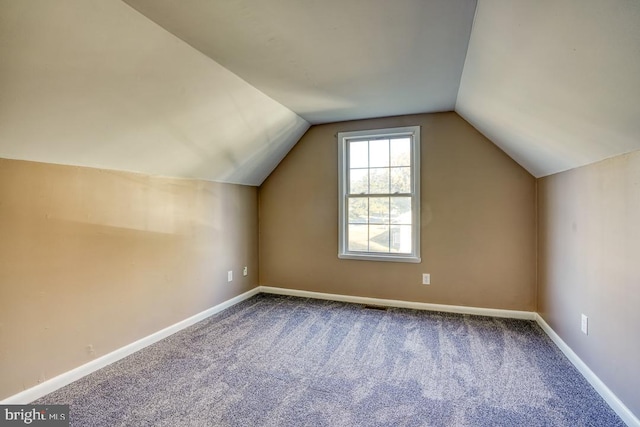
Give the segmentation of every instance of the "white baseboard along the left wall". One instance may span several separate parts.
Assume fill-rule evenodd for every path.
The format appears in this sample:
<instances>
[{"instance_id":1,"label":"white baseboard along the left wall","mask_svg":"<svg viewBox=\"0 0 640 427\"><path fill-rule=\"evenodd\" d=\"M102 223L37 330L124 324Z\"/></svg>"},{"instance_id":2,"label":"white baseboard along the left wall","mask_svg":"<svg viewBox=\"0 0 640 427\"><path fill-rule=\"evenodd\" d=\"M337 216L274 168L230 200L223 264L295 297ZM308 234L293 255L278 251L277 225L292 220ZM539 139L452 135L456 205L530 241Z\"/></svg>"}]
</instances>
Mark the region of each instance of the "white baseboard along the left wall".
<instances>
[{"instance_id":1,"label":"white baseboard along the left wall","mask_svg":"<svg viewBox=\"0 0 640 427\"><path fill-rule=\"evenodd\" d=\"M145 347L150 346L170 335L175 334L176 332L185 329L193 324L196 324L207 317L213 316L216 313L221 312L241 301L244 301L252 296L258 294L259 287L255 287L250 291L247 291L243 294L240 294L236 297L228 299L218 305L215 305L205 311L202 311L194 316L191 316L185 320L182 320L178 323L175 323L171 326L168 326L158 332L155 332L151 335L148 335L144 338L139 339L131 344L125 345L117 350L112 351L111 353L105 354L97 359L92 360L89 363L85 363L77 368L74 368L70 371L67 371L63 374L60 374L56 377L53 377L47 381L44 381L34 387L31 387L25 391L14 394L13 396L9 396L8 398L0 401L0 404L10 405L10 404L28 404L33 402L36 399L39 399L47 394L58 390L70 384L74 381L79 380L80 378L89 375L92 372L97 371L98 369L102 369L107 365L110 365L114 362L117 362L120 359L123 359L130 354L135 353L136 351L142 350Z\"/></svg>"}]
</instances>

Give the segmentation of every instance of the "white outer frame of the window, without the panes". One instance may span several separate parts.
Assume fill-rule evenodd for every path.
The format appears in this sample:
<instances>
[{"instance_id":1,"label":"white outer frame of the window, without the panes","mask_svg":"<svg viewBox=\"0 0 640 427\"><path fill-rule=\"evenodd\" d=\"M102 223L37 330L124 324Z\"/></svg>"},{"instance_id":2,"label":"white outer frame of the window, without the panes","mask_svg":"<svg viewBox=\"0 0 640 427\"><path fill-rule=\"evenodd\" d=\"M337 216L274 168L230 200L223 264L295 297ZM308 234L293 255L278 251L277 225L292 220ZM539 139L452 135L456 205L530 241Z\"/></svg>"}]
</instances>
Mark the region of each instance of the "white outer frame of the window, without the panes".
<instances>
[{"instance_id":1,"label":"white outer frame of the window, without the panes","mask_svg":"<svg viewBox=\"0 0 640 427\"><path fill-rule=\"evenodd\" d=\"M348 191L349 191L349 142L363 139L411 137L411 253L380 253L349 251L348 242ZM365 261L392 261L419 263L420 258L420 126L388 129L361 130L338 133L338 258Z\"/></svg>"}]
</instances>

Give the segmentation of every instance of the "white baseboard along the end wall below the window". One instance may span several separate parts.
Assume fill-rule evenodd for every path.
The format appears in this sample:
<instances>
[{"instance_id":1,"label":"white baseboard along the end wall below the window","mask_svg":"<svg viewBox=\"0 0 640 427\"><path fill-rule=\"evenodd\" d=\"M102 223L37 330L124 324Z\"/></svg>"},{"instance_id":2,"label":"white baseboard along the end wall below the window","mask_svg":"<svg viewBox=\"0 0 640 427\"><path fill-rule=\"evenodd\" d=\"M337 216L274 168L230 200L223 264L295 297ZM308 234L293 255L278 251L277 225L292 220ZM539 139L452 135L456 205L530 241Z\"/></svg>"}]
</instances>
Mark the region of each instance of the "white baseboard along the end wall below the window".
<instances>
[{"instance_id":1,"label":"white baseboard along the end wall below the window","mask_svg":"<svg viewBox=\"0 0 640 427\"><path fill-rule=\"evenodd\" d=\"M443 311L446 313L473 314L477 316L506 317L509 319L535 320L532 311L502 310L494 308L466 307L462 305L431 304L426 302L401 301L393 299L357 297L351 295L327 294L322 292L301 291L297 289L260 286L260 292L266 294L289 295L302 298L314 298L330 301L351 302L355 304L383 305L387 307L411 308L414 310Z\"/></svg>"}]
</instances>

